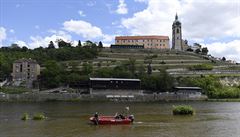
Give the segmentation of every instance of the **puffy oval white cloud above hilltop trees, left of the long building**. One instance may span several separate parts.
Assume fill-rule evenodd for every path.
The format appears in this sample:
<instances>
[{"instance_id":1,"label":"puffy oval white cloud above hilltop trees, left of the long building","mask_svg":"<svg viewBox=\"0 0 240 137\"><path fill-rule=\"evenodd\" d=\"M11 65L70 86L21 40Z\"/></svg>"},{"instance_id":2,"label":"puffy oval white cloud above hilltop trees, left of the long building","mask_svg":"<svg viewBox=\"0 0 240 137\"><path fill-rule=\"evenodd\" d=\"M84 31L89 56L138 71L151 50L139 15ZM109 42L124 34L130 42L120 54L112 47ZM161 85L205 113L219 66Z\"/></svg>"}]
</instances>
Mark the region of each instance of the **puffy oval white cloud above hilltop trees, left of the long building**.
<instances>
[{"instance_id":1,"label":"puffy oval white cloud above hilltop trees, left of the long building","mask_svg":"<svg viewBox=\"0 0 240 137\"><path fill-rule=\"evenodd\" d=\"M102 30L83 20L70 20L63 23L64 30L76 33L84 38L93 39L103 36Z\"/></svg>"}]
</instances>

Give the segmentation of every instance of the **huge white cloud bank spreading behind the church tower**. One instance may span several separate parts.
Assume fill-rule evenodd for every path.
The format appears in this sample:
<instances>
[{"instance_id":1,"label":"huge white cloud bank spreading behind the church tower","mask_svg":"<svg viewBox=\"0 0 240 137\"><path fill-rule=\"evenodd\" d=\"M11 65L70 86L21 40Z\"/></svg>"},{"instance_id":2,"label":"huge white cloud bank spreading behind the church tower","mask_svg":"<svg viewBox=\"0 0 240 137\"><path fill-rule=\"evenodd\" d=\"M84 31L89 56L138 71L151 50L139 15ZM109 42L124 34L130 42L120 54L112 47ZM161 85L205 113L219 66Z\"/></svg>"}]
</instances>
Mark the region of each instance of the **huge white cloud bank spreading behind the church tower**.
<instances>
[{"instance_id":1,"label":"huge white cloud bank spreading behind the church tower","mask_svg":"<svg viewBox=\"0 0 240 137\"><path fill-rule=\"evenodd\" d=\"M240 37L240 1L233 0L135 0L147 8L122 19L132 35L158 34L171 36L176 12L187 39L221 39Z\"/></svg>"}]
</instances>

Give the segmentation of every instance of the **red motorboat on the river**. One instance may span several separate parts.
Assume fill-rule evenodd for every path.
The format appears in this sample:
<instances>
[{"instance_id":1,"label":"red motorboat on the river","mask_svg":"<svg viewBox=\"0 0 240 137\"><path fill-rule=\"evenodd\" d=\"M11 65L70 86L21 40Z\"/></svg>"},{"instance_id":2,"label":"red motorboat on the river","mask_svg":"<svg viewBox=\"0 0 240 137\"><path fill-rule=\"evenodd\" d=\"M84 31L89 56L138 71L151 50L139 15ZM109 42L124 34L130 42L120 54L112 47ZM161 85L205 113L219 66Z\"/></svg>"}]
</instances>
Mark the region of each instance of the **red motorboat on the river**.
<instances>
[{"instance_id":1,"label":"red motorboat on the river","mask_svg":"<svg viewBox=\"0 0 240 137\"><path fill-rule=\"evenodd\" d=\"M91 117L90 121L95 125L118 125L118 124L131 124L134 121L134 116L129 117L115 117L115 116L99 116L98 118Z\"/></svg>"}]
</instances>

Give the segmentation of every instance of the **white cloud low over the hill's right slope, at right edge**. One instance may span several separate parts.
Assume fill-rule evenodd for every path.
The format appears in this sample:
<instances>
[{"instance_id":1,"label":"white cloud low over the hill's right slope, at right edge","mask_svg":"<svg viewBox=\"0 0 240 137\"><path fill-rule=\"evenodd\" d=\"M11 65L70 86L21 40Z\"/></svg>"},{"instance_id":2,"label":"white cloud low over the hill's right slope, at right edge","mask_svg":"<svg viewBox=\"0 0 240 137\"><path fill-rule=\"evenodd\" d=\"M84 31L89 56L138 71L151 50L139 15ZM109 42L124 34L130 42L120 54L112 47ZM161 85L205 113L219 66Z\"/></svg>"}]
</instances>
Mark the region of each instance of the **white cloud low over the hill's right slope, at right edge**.
<instances>
[{"instance_id":1,"label":"white cloud low over the hill's right slope, at right edge","mask_svg":"<svg viewBox=\"0 0 240 137\"><path fill-rule=\"evenodd\" d=\"M240 40L233 40L231 42L215 42L210 44L202 44L207 47L210 54L215 57L225 57L227 60L235 60L240 62Z\"/></svg>"}]
</instances>

